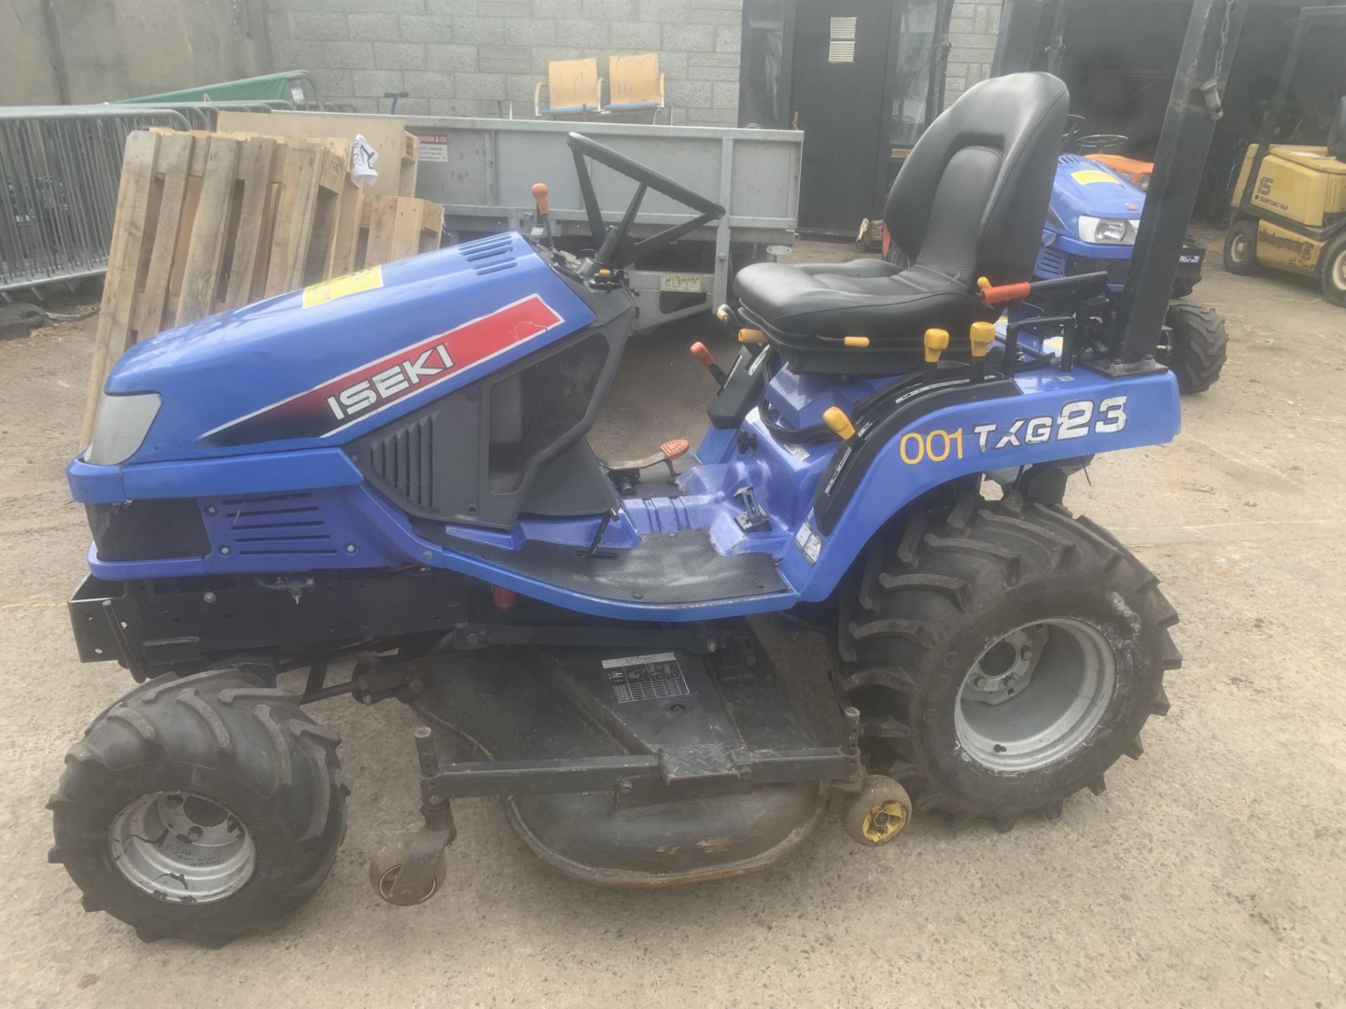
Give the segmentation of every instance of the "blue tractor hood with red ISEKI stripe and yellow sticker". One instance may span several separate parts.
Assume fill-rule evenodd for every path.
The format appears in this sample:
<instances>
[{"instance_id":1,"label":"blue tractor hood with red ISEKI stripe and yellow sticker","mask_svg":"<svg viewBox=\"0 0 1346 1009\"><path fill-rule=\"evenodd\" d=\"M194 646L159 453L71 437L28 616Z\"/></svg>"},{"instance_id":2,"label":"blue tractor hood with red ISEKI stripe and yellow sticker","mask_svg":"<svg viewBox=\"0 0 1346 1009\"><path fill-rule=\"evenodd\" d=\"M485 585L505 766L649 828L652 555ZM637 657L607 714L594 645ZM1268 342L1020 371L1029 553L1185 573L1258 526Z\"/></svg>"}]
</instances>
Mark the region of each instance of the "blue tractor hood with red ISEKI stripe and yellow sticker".
<instances>
[{"instance_id":1,"label":"blue tractor hood with red ISEKI stripe and yellow sticker","mask_svg":"<svg viewBox=\"0 0 1346 1009\"><path fill-rule=\"evenodd\" d=\"M592 320L518 234L376 266L136 344L87 457L113 435L137 440L128 463L339 445ZM160 402L143 441L109 433L147 393Z\"/></svg>"}]
</instances>

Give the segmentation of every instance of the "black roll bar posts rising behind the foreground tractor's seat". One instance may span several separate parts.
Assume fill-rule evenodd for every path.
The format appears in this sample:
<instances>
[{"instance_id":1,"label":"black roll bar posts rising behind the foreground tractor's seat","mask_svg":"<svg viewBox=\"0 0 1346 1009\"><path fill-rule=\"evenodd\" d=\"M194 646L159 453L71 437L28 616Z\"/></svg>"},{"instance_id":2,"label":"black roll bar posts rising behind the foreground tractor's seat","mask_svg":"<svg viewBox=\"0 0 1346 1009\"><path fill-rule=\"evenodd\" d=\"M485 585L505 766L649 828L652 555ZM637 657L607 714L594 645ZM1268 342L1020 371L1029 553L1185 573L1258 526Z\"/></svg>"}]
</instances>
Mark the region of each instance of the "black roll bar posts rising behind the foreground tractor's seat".
<instances>
[{"instance_id":1,"label":"black roll bar posts rising behind the foreground tractor's seat","mask_svg":"<svg viewBox=\"0 0 1346 1009\"><path fill-rule=\"evenodd\" d=\"M1055 73L1067 8L1069 0L1005 0L992 75L1034 66ZM1155 355L1246 11L1248 0L1193 0L1117 305L1123 370L1144 367Z\"/></svg>"}]
</instances>

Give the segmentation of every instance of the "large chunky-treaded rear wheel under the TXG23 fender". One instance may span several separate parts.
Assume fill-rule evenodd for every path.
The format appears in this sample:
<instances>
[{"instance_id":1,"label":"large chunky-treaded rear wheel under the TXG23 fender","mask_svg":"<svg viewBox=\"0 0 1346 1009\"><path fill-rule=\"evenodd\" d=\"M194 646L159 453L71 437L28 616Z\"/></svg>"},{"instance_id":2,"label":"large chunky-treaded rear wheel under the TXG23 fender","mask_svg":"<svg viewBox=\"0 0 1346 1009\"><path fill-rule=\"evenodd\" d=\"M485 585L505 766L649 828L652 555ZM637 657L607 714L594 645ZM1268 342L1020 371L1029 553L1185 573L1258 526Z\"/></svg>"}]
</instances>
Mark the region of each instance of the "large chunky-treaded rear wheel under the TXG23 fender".
<instances>
[{"instance_id":1,"label":"large chunky-treaded rear wheel under the TXG23 fender","mask_svg":"<svg viewBox=\"0 0 1346 1009\"><path fill-rule=\"evenodd\" d=\"M1001 829L1104 788L1168 702L1178 615L1116 539L1061 506L964 494L876 542L843 605L836 686L871 768L917 809Z\"/></svg>"}]
</instances>

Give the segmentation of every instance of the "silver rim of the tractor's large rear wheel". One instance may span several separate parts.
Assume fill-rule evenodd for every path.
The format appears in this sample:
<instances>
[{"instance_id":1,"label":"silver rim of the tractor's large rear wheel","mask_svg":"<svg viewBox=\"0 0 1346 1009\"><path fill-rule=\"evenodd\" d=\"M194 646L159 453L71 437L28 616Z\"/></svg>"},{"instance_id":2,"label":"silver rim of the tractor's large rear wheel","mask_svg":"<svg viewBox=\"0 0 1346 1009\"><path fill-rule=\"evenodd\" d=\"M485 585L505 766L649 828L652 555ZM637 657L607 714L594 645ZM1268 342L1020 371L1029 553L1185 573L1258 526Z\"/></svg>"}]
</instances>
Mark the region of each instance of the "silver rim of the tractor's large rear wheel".
<instances>
[{"instance_id":1,"label":"silver rim of the tractor's large rear wheel","mask_svg":"<svg viewBox=\"0 0 1346 1009\"><path fill-rule=\"evenodd\" d=\"M991 642L958 690L958 743L992 771L1065 759L1098 726L1117 683L1112 646L1071 618L1016 627Z\"/></svg>"}]
</instances>

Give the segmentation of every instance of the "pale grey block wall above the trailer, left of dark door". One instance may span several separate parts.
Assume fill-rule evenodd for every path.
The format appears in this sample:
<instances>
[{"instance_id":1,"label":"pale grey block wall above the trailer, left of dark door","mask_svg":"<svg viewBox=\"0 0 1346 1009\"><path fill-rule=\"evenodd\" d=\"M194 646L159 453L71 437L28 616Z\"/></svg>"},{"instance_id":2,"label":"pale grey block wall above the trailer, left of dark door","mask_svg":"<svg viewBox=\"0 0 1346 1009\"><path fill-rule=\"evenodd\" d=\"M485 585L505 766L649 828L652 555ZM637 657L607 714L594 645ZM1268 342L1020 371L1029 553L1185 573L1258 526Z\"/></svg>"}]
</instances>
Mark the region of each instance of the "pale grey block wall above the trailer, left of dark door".
<instances>
[{"instance_id":1,"label":"pale grey block wall above the trailer, left of dark door","mask_svg":"<svg viewBox=\"0 0 1346 1009\"><path fill-rule=\"evenodd\" d=\"M743 0L268 0L272 63L326 98L421 116L533 114L553 59L658 52L678 125L738 125ZM660 120L664 121L662 118Z\"/></svg>"}]
</instances>

